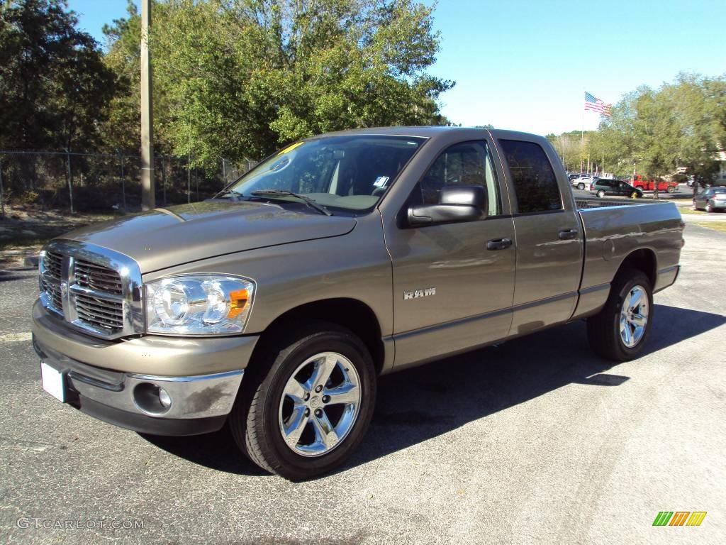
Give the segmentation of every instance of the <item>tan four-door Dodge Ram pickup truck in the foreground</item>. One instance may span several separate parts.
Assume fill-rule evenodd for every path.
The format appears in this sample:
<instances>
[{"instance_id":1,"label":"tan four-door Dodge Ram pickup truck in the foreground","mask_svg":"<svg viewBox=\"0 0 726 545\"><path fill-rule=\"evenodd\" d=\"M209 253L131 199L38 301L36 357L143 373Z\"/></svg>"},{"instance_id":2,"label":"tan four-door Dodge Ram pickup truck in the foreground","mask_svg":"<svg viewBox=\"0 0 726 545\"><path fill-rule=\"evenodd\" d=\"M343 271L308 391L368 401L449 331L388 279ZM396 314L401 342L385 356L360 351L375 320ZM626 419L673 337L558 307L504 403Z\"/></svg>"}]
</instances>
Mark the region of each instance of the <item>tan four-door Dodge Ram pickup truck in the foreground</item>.
<instances>
[{"instance_id":1,"label":"tan four-door Dodge Ram pickup truck in the foreground","mask_svg":"<svg viewBox=\"0 0 726 545\"><path fill-rule=\"evenodd\" d=\"M584 319L597 355L637 358L683 227L672 203L576 201L531 134L312 137L215 198L47 243L41 384L138 432L227 425L303 479L362 443L377 376Z\"/></svg>"}]
</instances>

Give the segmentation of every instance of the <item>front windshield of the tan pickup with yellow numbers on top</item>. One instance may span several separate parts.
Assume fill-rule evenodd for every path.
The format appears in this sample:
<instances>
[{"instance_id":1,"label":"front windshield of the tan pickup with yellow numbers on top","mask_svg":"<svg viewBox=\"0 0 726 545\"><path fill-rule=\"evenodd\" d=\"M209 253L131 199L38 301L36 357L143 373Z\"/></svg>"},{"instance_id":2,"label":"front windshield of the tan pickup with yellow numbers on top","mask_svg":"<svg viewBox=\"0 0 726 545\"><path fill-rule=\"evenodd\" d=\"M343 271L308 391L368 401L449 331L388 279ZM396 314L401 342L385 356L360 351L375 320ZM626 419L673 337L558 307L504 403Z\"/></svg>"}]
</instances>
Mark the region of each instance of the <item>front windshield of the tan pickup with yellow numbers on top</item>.
<instances>
[{"instance_id":1,"label":"front windshield of the tan pickup with yellow numbers on top","mask_svg":"<svg viewBox=\"0 0 726 545\"><path fill-rule=\"evenodd\" d=\"M298 193L322 206L359 213L372 209L425 141L419 137L354 135L324 137L287 146L258 164L229 190ZM274 195L298 201L292 195Z\"/></svg>"}]
</instances>

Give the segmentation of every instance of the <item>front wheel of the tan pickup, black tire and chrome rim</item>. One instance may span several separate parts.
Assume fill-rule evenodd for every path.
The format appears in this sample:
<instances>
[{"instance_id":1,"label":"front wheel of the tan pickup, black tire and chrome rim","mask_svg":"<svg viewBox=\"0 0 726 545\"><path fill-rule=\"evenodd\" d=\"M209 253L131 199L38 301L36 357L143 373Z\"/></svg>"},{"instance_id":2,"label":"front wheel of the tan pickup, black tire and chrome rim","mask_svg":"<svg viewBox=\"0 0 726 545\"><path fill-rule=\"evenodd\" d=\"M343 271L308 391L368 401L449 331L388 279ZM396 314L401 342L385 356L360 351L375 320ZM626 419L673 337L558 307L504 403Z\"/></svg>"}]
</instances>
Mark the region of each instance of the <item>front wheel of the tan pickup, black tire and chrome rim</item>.
<instances>
[{"instance_id":1,"label":"front wheel of the tan pickup, black tire and chrome rim","mask_svg":"<svg viewBox=\"0 0 726 545\"><path fill-rule=\"evenodd\" d=\"M303 480L343 464L362 442L375 406L375 368L362 341L332 323L275 340L242 380L229 425L258 466Z\"/></svg>"}]
</instances>

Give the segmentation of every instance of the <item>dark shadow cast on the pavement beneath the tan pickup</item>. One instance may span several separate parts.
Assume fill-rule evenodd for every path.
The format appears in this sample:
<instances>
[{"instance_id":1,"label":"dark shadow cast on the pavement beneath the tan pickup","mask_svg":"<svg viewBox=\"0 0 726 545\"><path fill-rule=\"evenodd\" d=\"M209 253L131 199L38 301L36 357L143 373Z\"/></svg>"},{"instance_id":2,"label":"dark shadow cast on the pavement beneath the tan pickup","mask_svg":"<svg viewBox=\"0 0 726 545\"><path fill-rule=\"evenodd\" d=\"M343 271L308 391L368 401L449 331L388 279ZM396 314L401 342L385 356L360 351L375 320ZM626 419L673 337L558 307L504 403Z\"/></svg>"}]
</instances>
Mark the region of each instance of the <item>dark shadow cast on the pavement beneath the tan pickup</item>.
<instances>
[{"instance_id":1,"label":"dark shadow cast on the pavement beneath the tan pickup","mask_svg":"<svg viewBox=\"0 0 726 545\"><path fill-rule=\"evenodd\" d=\"M724 323L722 315L656 304L646 352L658 352ZM580 321L383 376L367 436L340 471L568 384L617 387L629 377L606 372L616 366L592 354L585 323ZM237 454L226 429L203 438L144 437L196 464L244 475L266 475Z\"/></svg>"}]
</instances>

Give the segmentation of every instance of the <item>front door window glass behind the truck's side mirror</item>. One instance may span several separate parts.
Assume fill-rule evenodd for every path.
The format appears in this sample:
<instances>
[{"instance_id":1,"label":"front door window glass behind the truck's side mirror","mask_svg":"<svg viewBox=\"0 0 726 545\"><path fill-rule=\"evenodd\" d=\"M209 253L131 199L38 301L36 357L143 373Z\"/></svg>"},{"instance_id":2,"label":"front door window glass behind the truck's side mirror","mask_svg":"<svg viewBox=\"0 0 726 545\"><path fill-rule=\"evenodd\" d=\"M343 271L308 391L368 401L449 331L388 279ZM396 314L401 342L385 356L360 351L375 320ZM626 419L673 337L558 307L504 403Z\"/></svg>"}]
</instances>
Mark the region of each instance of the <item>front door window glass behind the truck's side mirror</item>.
<instances>
[{"instance_id":1,"label":"front door window glass behind the truck's side mirror","mask_svg":"<svg viewBox=\"0 0 726 545\"><path fill-rule=\"evenodd\" d=\"M499 185L486 142L462 142L446 148L417 186L421 192L420 202L438 204L441 188L449 185L481 185L486 189L488 215L502 214Z\"/></svg>"}]
</instances>

